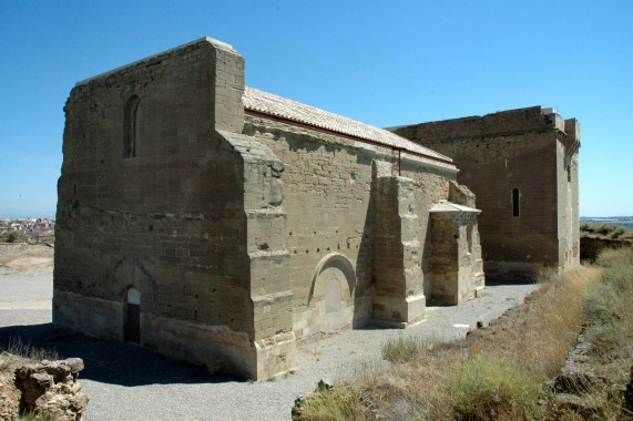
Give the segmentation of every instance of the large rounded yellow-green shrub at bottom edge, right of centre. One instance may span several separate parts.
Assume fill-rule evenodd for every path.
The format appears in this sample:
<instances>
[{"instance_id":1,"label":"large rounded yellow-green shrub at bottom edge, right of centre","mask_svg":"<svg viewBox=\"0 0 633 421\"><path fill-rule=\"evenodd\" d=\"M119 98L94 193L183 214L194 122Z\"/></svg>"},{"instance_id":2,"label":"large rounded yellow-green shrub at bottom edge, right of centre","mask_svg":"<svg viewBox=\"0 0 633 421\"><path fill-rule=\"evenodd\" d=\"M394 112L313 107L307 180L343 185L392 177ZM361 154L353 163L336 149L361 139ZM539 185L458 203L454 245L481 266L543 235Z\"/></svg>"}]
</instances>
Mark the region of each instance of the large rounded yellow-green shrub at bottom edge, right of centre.
<instances>
[{"instance_id":1,"label":"large rounded yellow-green shrub at bottom edge, right of centre","mask_svg":"<svg viewBox=\"0 0 633 421\"><path fill-rule=\"evenodd\" d=\"M448 369L445 387L457 419L531 419L545 394L542 381L517 363L474 355Z\"/></svg>"}]
</instances>

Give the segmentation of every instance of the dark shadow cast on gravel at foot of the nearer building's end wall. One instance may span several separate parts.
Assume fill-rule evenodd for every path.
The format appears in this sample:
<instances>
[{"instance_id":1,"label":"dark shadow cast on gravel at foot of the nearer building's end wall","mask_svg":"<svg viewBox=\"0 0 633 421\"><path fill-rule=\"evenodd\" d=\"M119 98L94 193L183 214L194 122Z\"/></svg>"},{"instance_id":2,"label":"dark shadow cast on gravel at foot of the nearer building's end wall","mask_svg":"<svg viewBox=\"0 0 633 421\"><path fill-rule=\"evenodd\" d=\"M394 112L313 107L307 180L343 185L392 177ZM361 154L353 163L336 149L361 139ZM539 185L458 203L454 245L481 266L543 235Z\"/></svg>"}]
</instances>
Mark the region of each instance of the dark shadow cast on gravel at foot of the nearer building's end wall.
<instances>
[{"instance_id":1,"label":"dark shadow cast on gravel at foot of the nearer building's end wall","mask_svg":"<svg viewBox=\"0 0 633 421\"><path fill-rule=\"evenodd\" d=\"M222 383L245 381L228 374L211 374L206 368L160 356L131 342L114 342L54 329L52 324L0 328L0 349L21 339L32 347L54 350L60 358L79 357L80 374L101 383L120 386Z\"/></svg>"}]
</instances>

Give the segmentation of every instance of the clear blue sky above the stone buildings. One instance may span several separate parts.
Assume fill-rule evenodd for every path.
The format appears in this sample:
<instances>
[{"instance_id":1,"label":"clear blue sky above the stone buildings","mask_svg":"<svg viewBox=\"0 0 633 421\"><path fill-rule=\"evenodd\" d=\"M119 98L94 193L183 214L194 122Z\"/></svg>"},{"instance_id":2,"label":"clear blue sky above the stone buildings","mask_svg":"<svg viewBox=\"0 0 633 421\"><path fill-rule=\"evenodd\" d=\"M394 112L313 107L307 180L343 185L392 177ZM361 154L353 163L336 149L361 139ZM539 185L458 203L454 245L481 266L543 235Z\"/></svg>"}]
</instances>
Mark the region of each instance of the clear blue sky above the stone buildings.
<instances>
[{"instance_id":1,"label":"clear blue sky above the stone buildings","mask_svg":"<svg viewBox=\"0 0 633 421\"><path fill-rule=\"evenodd\" d=\"M0 2L0 217L54 217L75 82L212 37L246 84L377 126L554 106L582 216L633 215L632 1Z\"/></svg>"}]
</instances>

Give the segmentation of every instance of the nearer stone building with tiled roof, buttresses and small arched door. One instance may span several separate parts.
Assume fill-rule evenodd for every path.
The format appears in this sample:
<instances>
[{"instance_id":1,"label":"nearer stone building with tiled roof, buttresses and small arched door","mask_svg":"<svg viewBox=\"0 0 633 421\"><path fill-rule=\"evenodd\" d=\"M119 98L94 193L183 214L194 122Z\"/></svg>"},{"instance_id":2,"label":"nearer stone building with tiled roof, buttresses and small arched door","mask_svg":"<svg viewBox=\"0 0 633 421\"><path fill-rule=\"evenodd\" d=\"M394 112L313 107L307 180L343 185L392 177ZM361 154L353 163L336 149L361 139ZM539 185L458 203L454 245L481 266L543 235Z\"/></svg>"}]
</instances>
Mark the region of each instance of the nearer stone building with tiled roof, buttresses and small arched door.
<instances>
[{"instance_id":1,"label":"nearer stone building with tiled roof, buttresses and small arched door","mask_svg":"<svg viewBox=\"0 0 633 421\"><path fill-rule=\"evenodd\" d=\"M265 379L297 339L483 287L450 158L246 88L228 44L79 82L64 111L57 326Z\"/></svg>"}]
</instances>

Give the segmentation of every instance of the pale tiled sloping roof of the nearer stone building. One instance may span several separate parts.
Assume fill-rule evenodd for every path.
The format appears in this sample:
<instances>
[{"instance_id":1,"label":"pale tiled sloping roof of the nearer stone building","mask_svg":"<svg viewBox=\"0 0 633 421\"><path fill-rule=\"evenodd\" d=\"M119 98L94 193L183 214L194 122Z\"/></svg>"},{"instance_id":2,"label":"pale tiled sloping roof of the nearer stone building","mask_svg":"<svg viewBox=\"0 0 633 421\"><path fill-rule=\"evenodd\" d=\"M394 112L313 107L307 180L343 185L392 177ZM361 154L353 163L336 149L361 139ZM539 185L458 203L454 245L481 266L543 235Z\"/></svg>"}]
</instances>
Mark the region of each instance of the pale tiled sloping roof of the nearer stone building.
<instances>
[{"instance_id":1,"label":"pale tiled sloping roof of the nearer stone building","mask_svg":"<svg viewBox=\"0 0 633 421\"><path fill-rule=\"evenodd\" d=\"M405 137L398 136L397 134L384 129L360 123L356 120L315 109L314 106L273 95L272 93L263 92L253 88L245 86L242 101L244 102L245 109L360 137L389 147L401 148L417 154L452 162L448 156L410 142Z\"/></svg>"}]
</instances>

